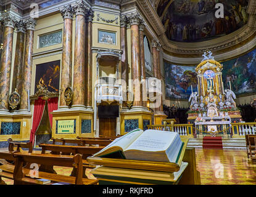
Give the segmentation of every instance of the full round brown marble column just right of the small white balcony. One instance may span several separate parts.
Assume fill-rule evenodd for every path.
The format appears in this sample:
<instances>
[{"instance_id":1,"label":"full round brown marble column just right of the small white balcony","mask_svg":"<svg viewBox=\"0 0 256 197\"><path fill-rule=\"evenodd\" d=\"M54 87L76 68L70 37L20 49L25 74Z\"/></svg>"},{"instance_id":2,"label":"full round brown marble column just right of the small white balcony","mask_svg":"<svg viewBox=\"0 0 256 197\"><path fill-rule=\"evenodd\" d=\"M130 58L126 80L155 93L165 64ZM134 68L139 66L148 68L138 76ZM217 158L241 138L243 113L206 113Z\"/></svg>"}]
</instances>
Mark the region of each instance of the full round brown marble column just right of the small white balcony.
<instances>
[{"instance_id":1,"label":"full round brown marble column just right of the small white balcony","mask_svg":"<svg viewBox=\"0 0 256 197\"><path fill-rule=\"evenodd\" d=\"M139 21L141 17L138 12L130 15L131 25L131 76L133 79L133 107L142 107L141 91L141 61L139 49Z\"/></svg>"}]
</instances>

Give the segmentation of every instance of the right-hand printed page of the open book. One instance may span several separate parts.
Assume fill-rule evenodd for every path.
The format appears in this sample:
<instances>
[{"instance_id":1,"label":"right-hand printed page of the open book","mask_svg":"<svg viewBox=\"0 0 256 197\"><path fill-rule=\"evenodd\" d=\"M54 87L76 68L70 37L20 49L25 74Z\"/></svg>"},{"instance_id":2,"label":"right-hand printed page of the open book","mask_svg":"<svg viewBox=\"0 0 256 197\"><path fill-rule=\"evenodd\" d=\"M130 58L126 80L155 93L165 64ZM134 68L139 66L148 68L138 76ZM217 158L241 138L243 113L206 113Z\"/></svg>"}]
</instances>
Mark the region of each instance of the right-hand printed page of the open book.
<instances>
[{"instance_id":1,"label":"right-hand printed page of the open book","mask_svg":"<svg viewBox=\"0 0 256 197\"><path fill-rule=\"evenodd\" d=\"M177 133L169 131L144 131L126 150L165 151L175 139Z\"/></svg>"}]
</instances>

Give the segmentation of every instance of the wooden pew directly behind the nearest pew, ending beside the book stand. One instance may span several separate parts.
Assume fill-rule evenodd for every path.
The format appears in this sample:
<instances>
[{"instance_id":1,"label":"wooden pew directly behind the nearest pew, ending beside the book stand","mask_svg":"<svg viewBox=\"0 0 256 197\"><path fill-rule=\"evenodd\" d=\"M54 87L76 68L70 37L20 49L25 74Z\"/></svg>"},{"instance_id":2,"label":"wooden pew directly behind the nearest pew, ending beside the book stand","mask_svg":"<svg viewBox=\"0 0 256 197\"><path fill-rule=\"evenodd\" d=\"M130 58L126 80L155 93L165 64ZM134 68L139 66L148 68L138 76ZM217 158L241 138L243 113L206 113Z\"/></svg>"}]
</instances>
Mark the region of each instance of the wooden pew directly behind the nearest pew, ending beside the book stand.
<instances>
[{"instance_id":1,"label":"wooden pew directly behind the nearest pew, ending beside the book stand","mask_svg":"<svg viewBox=\"0 0 256 197\"><path fill-rule=\"evenodd\" d=\"M96 167L89 164L86 161L86 158L102 150L102 148L104 148L105 146L89 147L89 146L54 145L54 144L40 143L39 147L42 148L41 154L46 154L46 151L51 151L52 155L81 154L83 158L83 177L86 177L85 175L86 168ZM42 165L39 167L39 170L44 172L56 173L52 165ZM72 175L74 174L74 172L75 172L75 169L73 169Z\"/></svg>"}]
</instances>

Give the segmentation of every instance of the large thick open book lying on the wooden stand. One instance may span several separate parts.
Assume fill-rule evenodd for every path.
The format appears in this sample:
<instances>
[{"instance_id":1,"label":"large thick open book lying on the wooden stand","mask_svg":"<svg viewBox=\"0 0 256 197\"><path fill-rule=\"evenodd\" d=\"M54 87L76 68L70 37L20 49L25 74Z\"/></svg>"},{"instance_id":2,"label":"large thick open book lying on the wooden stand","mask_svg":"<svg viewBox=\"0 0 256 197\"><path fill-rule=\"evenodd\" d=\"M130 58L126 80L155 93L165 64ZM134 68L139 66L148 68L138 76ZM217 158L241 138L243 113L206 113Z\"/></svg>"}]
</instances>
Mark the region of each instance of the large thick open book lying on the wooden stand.
<instances>
[{"instance_id":1,"label":"large thick open book lying on the wooden stand","mask_svg":"<svg viewBox=\"0 0 256 197\"><path fill-rule=\"evenodd\" d=\"M177 163L183 144L176 132L134 129L93 156Z\"/></svg>"}]
</instances>

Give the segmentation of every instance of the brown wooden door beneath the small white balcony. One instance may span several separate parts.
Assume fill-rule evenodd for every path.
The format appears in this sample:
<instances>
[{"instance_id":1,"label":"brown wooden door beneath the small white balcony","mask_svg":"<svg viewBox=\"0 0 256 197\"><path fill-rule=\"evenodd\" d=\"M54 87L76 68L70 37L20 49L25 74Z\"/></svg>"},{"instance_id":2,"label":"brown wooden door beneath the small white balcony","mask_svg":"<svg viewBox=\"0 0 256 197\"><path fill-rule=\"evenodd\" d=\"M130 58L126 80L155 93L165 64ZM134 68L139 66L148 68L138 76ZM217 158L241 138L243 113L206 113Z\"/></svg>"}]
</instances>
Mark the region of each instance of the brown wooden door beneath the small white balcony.
<instances>
[{"instance_id":1,"label":"brown wooden door beneath the small white balcony","mask_svg":"<svg viewBox=\"0 0 256 197\"><path fill-rule=\"evenodd\" d=\"M117 118L99 118L99 135L116 135Z\"/></svg>"}]
</instances>

